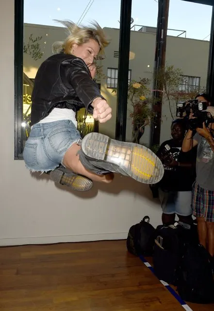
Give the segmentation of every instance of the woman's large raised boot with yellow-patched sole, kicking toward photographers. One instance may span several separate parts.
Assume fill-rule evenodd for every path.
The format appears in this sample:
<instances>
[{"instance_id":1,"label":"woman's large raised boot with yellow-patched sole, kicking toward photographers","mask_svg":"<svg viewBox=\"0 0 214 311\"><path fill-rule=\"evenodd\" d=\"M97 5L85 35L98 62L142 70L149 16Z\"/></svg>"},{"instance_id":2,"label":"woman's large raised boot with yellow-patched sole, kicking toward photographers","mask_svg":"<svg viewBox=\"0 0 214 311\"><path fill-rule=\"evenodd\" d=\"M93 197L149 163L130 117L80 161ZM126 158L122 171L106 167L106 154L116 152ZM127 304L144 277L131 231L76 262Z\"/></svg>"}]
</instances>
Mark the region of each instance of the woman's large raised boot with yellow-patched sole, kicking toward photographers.
<instances>
[{"instance_id":1,"label":"woman's large raised boot with yellow-patched sole, kicking toward photographers","mask_svg":"<svg viewBox=\"0 0 214 311\"><path fill-rule=\"evenodd\" d=\"M87 169L98 168L130 176L140 183L158 183L164 175L161 160L147 147L116 141L100 133L89 133L81 143ZM80 158L81 160L81 158Z\"/></svg>"}]
</instances>

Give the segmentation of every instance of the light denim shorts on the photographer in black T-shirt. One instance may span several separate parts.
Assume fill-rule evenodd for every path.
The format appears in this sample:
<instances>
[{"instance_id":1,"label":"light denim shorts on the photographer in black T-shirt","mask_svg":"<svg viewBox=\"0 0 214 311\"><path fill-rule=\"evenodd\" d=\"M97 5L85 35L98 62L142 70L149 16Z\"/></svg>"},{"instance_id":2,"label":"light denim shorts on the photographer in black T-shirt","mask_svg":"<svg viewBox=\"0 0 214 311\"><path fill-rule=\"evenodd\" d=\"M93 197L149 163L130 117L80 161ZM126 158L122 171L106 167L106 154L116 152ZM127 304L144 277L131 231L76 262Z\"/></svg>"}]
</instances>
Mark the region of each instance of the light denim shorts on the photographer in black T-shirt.
<instances>
[{"instance_id":1,"label":"light denim shorts on the photographer in black T-shirt","mask_svg":"<svg viewBox=\"0 0 214 311\"><path fill-rule=\"evenodd\" d=\"M192 215L192 191L163 191L159 188L159 199L164 214Z\"/></svg>"}]
</instances>

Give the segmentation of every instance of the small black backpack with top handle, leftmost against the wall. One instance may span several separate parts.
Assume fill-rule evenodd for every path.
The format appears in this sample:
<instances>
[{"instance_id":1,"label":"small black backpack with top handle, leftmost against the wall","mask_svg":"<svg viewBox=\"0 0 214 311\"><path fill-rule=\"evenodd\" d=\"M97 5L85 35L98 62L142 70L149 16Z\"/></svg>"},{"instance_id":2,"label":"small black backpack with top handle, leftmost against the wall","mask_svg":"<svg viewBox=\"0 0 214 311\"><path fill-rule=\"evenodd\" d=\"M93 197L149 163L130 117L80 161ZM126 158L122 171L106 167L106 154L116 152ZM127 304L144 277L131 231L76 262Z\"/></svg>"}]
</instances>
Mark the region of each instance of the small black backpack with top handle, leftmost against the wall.
<instances>
[{"instance_id":1,"label":"small black backpack with top handle, leftmost against the wall","mask_svg":"<svg viewBox=\"0 0 214 311\"><path fill-rule=\"evenodd\" d=\"M149 223L149 220L149 217L145 216L129 230L126 245L128 251L133 255L152 256L155 228Z\"/></svg>"}]
</instances>

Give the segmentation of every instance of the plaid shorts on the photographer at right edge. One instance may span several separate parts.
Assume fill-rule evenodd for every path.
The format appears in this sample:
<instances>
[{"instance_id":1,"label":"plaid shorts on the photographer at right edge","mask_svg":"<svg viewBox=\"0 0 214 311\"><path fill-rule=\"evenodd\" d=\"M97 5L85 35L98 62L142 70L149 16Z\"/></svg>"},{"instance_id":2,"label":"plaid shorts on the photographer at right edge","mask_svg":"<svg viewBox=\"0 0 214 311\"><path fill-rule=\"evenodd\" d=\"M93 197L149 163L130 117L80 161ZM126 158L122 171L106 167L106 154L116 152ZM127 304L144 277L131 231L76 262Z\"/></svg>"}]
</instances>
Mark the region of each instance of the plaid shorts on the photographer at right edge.
<instances>
[{"instance_id":1,"label":"plaid shorts on the photographer at right edge","mask_svg":"<svg viewBox=\"0 0 214 311\"><path fill-rule=\"evenodd\" d=\"M197 182L193 184L192 210L196 217L214 222L214 191L201 188Z\"/></svg>"}]
</instances>

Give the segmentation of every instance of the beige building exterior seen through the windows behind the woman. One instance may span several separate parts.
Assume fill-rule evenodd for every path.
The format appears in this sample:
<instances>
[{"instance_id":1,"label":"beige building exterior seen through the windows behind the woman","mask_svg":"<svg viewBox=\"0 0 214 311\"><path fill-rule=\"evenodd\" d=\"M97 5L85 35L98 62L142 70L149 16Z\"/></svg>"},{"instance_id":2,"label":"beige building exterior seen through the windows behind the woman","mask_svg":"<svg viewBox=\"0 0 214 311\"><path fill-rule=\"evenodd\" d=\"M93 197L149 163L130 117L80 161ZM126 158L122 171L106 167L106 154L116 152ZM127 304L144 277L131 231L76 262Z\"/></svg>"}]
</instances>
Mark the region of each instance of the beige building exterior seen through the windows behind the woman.
<instances>
[{"instance_id":1,"label":"beige building exterior seen through the windows behind the woman","mask_svg":"<svg viewBox=\"0 0 214 311\"><path fill-rule=\"evenodd\" d=\"M105 49L105 59L100 61L103 73L106 78L100 81L101 93L107 99L112 107L113 117L105 124L99 125L99 131L115 137L115 123L116 123L116 94L113 89L107 88L107 71L108 68L118 68L118 50L119 50L119 29L104 28L107 36L111 40L110 45ZM51 45L54 41L64 40L66 37L65 29L63 27L53 27L45 25L25 24L24 26L24 40L28 42L28 38L33 34L33 38L42 36L39 41L41 46L42 58L33 60L30 55L24 54L24 73L31 79L35 77L40 64L52 55ZM154 33L147 33L142 31L131 31L130 44L130 63L131 79L139 80L140 78L152 79L153 65L155 55L155 40ZM188 39L183 37L167 37L166 48L166 64L174 65L175 68L180 68L183 75L200 78L200 88L206 87L207 67L208 67L209 41ZM152 88L152 85L151 85ZM29 93L31 90L24 86L26 90L26 104L29 104ZM175 103L173 103L175 105ZM25 106L25 110L27 106ZM132 140L132 120L129 115L131 112L131 105L128 103L127 111L127 131L126 140ZM163 105L162 112L162 127L161 127L161 142L170 137L170 124L172 118L169 113L168 103ZM147 126L142 137L142 143L149 144L150 127Z\"/></svg>"}]
</instances>

